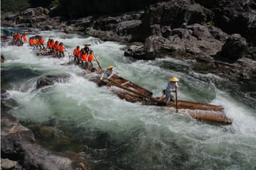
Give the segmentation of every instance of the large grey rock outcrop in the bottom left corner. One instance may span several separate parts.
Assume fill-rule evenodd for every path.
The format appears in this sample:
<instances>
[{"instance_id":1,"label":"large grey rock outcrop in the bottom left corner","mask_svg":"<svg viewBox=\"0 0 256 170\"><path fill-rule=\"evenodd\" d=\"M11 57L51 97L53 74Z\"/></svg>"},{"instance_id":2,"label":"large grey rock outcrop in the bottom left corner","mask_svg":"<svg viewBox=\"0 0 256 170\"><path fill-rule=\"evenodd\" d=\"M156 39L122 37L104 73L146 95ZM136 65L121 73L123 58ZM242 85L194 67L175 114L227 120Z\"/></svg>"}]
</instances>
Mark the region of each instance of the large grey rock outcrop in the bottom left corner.
<instances>
[{"instance_id":1,"label":"large grey rock outcrop in the bottom left corner","mask_svg":"<svg viewBox=\"0 0 256 170\"><path fill-rule=\"evenodd\" d=\"M3 160L1 164L4 163L6 168L90 169L88 164L84 164L86 162L84 159L78 163L77 160L69 158L69 155L58 154L37 145L31 130L21 126L13 116L1 112L1 161ZM79 167L73 167L73 164Z\"/></svg>"}]
</instances>

